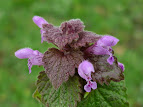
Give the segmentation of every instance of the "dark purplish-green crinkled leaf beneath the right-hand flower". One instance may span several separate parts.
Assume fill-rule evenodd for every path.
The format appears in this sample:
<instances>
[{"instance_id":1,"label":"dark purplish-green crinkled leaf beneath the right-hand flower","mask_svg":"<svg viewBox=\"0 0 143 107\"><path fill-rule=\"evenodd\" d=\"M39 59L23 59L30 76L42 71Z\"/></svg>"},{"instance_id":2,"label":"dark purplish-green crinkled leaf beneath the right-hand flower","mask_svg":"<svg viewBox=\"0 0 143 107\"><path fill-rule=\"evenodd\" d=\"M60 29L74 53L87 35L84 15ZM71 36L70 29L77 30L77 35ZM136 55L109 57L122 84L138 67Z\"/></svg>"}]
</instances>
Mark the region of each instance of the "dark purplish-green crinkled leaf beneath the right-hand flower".
<instances>
[{"instance_id":1,"label":"dark purplish-green crinkled leaf beneath the right-hand flower","mask_svg":"<svg viewBox=\"0 0 143 107\"><path fill-rule=\"evenodd\" d=\"M95 69L95 72L92 73L93 81L108 85L111 80L116 82L124 80L123 71L118 66L117 58L114 56L115 61L113 65L110 65L107 62L108 57L108 55L93 55L89 58Z\"/></svg>"}]
</instances>

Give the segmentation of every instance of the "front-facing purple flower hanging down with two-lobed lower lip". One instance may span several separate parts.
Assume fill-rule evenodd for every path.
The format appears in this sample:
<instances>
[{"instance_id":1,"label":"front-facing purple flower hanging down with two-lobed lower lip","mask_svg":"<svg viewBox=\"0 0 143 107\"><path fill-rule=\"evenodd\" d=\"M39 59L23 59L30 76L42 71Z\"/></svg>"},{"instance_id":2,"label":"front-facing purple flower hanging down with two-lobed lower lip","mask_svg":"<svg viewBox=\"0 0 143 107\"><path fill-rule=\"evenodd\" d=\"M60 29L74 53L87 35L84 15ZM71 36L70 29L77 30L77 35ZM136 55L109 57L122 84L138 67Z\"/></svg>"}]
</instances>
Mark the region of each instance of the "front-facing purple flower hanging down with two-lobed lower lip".
<instances>
[{"instance_id":1,"label":"front-facing purple flower hanging down with two-lobed lower lip","mask_svg":"<svg viewBox=\"0 0 143 107\"><path fill-rule=\"evenodd\" d=\"M86 92L90 92L91 88L97 88L97 83L91 81L91 72L95 71L93 65L89 61L85 60L82 63L80 63L78 67L78 74L87 81L87 84L84 86L84 90Z\"/></svg>"}]
</instances>

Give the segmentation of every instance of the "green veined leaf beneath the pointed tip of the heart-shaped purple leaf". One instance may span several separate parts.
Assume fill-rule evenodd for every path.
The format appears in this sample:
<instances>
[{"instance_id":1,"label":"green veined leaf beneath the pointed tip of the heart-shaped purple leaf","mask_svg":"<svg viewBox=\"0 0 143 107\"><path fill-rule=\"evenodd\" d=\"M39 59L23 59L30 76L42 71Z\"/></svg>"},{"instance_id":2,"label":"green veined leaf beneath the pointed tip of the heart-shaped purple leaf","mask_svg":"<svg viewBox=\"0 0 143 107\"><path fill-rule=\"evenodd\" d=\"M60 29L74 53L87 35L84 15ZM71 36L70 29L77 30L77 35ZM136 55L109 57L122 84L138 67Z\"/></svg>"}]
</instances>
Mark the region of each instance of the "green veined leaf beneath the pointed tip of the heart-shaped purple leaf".
<instances>
[{"instance_id":1,"label":"green veined leaf beneath the pointed tip of the heart-shaped purple leaf","mask_svg":"<svg viewBox=\"0 0 143 107\"><path fill-rule=\"evenodd\" d=\"M42 71L36 86L41 94L41 102L48 107L76 107L77 102L81 100L81 84L77 76L70 78L56 90L45 71Z\"/></svg>"}]
</instances>

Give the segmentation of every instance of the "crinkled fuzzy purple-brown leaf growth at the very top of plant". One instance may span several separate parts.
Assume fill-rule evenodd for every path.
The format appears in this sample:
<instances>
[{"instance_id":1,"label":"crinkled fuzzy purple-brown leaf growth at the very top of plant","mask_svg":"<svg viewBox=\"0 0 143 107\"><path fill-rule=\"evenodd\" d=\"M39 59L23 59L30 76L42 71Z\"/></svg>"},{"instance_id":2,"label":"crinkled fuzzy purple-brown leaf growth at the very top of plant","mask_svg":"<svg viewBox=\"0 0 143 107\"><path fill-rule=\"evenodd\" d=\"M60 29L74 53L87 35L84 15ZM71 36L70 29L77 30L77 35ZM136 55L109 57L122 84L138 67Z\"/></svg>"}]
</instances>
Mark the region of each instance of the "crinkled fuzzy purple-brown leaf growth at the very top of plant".
<instances>
[{"instance_id":1,"label":"crinkled fuzzy purple-brown leaf growth at the very top of plant","mask_svg":"<svg viewBox=\"0 0 143 107\"><path fill-rule=\"evenodd\" d=\"M43 24L43 39L49 43L53 43L62 49L72 41L79 38L78 33L83 31L84 25L79 19L63 22L61 27L55 27L51 24Z\"/></svg>"}]
</instances>

